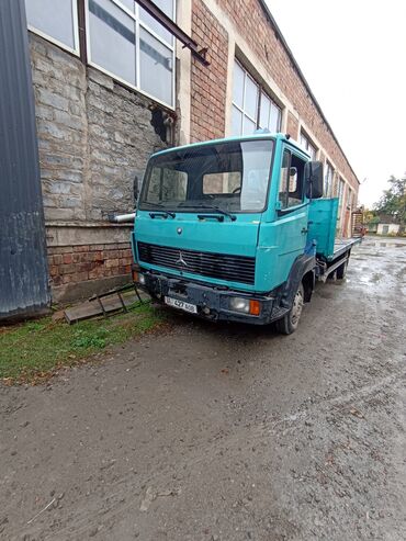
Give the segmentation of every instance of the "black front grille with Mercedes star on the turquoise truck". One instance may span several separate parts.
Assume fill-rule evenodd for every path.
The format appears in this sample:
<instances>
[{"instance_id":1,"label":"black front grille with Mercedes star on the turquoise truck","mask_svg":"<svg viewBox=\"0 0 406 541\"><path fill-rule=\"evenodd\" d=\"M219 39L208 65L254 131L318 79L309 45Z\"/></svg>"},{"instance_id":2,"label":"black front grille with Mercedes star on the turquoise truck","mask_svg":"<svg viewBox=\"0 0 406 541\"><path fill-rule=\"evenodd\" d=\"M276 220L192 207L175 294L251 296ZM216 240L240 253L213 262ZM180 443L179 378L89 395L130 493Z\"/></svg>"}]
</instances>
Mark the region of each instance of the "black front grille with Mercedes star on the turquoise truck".
<instances>
[{"instance_id":1,"label":"black front grille with Mercedes star on the turquoise truck","mask_svg":"<svg viewBox=\"0 0 406 541\"><path fill-rule=\"evenodd\" d=\"M256 260L210 251L183 250L169 246L138 243L139 261L202 277L253 284Z\"/></svg>"}]
</instances>

